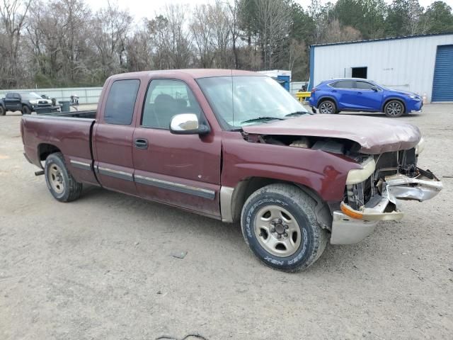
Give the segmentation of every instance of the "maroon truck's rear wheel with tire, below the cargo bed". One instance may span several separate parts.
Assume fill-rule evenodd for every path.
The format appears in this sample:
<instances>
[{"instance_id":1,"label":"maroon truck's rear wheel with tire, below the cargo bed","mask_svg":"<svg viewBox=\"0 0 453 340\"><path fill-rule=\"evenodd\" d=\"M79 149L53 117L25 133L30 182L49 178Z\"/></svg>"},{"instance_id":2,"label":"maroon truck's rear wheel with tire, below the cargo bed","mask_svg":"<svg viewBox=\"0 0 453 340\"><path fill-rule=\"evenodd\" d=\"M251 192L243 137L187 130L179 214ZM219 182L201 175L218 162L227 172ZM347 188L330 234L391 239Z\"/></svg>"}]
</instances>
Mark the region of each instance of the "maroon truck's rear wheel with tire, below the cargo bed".
<instances>
[{"instance_id":1,"label":"maroon truck's rear wheel with tire, below the cargo bed","mask_svg":"<svg viewBox=\"0 0 453 340\"><path fill-rule=\"evenodd\" d=\"M56 200L71 202L80 197L83 186L68 171L61 152L55 152L47 157L44 174L47 188Z\"/></svg>"}]
</instances>

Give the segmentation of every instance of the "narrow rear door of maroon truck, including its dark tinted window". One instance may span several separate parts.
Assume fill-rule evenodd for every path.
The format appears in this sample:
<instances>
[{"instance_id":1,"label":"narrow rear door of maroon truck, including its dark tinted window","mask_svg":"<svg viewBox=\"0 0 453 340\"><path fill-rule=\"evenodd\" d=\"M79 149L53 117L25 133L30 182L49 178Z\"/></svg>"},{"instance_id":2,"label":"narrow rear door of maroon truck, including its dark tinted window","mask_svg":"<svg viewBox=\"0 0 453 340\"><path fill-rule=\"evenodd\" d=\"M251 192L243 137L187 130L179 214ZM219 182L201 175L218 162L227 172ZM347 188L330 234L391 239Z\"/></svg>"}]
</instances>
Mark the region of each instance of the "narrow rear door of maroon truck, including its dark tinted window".
<instances>
[{"instance_id":1,"label":"narrow rear door of maroon truck, including its dark tinted window","mask_svg":"<svg viewBox=\"0 0 453 340\"><path fill-rule=\"evenodd\" d=\"M93 132L98 180L105 188L132 195L137 194L132 162L132 118L139 86L139 79L121 79L110 83L107 100L100 111L103 116Z\"/></svg>"}]
</instances>

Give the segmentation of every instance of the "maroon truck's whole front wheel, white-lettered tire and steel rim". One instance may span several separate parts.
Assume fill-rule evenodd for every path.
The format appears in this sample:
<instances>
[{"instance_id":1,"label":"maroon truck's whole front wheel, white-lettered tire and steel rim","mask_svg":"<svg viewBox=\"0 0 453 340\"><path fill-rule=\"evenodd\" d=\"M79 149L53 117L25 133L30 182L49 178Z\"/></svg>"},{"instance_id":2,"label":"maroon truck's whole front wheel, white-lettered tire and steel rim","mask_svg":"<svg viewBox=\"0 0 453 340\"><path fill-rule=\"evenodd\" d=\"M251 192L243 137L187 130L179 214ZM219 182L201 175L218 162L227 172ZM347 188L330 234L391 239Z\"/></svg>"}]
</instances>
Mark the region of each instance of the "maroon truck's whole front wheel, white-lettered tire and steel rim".
<instances>
[{"instance_id":1,"label":"maroon truck's whole front wheel, white-lettered tire and steel rim","mask_svg":"<svg viewBox=\"0 0 453 340\"><path fill-rule=\"evenodd\" d=\"M316 219L316 202L297 186L271 184L253 193L242 209L243 237L268 266L302 271L323 253L327 231Z\"/></svg>"}]
</instances>

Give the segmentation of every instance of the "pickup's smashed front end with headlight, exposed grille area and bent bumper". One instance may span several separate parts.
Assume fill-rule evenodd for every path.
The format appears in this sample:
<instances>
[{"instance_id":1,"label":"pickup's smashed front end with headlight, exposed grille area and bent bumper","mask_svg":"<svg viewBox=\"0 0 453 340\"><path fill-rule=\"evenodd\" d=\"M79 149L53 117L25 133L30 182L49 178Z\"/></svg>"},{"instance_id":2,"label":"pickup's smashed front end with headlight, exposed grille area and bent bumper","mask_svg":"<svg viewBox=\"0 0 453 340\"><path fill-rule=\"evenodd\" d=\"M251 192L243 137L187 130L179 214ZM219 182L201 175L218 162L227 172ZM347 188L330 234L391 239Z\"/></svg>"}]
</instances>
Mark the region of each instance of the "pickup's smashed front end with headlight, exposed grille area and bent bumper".
<instances>
[{"instance_id":1,"label":"pickup's smashed front end with headlight, exposed grille area and bent bumper","mask_svg":"<svg viewBox=\"0 0 453 340\"><path fill-rule=\"evenodd\" d=\"M350 171L345 198L333 211L332 244L360 242L377 222L401 220L401 200L421 202L442 190L442 182L431 171L417 166L422 148L423 140L412 149L361 156L362 169Z\"/></svg>"}]
</instances>

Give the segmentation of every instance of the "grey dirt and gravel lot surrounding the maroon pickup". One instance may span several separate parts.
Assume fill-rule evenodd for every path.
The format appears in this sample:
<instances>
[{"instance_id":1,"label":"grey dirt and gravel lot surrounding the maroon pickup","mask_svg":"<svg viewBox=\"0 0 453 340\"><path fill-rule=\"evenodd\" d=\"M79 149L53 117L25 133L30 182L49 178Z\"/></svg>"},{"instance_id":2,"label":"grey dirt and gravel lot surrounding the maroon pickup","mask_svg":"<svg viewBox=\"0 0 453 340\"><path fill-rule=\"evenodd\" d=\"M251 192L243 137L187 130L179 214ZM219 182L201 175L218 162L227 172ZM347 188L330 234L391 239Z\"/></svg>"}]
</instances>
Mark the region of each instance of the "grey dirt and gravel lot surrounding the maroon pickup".
<instances>
[{"instance_id":1,"label":"grey dirt and gravel lot surrounding the maroon pickup","mask_svg":"<svg viewBox=\"0 0 453 340\"><path fill-rule=\"evenodd\" d=\"M98 188L57 203L0 117L0 339L452 339L453 106L399 119L442 193L289 274L239 225Z\"/></svg>"}]
</instances>

